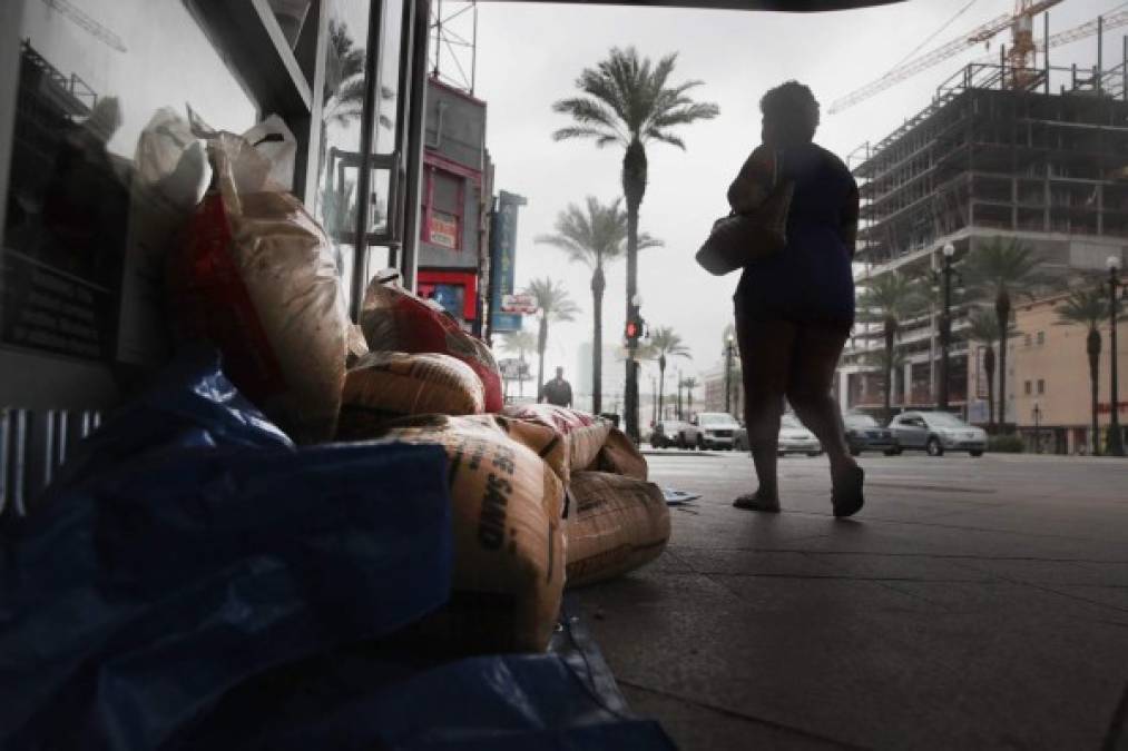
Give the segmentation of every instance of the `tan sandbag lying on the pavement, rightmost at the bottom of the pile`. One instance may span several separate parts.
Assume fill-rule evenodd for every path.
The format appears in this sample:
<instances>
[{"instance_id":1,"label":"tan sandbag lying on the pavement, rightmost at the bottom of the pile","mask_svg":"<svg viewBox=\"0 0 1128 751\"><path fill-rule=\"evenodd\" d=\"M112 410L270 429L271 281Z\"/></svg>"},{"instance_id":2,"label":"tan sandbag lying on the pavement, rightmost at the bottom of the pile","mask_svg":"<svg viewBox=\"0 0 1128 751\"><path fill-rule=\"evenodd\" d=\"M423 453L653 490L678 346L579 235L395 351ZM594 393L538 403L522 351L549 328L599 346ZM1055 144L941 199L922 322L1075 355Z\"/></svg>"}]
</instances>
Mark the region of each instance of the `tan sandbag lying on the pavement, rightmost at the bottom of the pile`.
<instances>
[{"instance_id":1,"label":"tan sandbag lying on the pavement, rightmost at the bottom of the pile","mask_svg":"<svg viewBox=\"0 0 1128 751\"><path fill-rule=\"evenodd\" d=\"M670 511L653 483L607 472L575 472L569 488L567 585L619 576L662 554Z\"/></svg>"}]
</instances>

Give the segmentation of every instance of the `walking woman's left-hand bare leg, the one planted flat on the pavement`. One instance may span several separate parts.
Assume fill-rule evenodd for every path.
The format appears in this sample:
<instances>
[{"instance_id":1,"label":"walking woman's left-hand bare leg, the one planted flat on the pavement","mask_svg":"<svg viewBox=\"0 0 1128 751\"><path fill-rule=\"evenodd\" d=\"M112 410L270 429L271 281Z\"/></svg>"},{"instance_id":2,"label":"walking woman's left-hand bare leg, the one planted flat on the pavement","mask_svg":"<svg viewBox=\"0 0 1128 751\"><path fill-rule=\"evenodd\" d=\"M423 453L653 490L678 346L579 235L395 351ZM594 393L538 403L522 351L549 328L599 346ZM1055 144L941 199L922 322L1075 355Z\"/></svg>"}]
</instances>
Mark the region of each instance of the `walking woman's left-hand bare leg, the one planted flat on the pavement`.
<instances>
[{"instance_id":1,"label":"walking woman's left-hand bare leg, the one planted flat on the pavement","mask_svg":"<svg viewBox=\"0 0 1128 751\"><path fill-rule=\"evenodd\" d=\"M759 479L756 497L768 505L778 505L779 502L776 451L779 448L779 417L783 415L795 330L793 324L785 321L737 318L744 385L744 426Z\"/></svg>"}]
</instances>

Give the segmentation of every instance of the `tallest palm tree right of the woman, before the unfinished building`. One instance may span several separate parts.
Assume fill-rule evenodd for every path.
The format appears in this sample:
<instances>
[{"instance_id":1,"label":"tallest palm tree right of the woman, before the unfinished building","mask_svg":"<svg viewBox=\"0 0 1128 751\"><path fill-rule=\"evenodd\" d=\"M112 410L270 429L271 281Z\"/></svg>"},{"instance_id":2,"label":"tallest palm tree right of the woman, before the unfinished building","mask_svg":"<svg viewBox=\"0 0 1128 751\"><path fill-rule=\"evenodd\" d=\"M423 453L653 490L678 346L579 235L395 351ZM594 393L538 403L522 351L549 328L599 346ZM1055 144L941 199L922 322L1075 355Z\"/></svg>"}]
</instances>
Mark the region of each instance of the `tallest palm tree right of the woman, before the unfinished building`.
<instances>
[{"instance_id":1,"label":"tallest palm tree right of the woman, before the unfinished building","mask_svg":"<svg viewBox=\"0 0 1128 751\"><path fill-rule=\"evenodd\" d=\"M1033 248L1017 240L993 238L971 253L963 260L963 279L972 299L994 299L997 319L998 370L998 425L1006 425L1006 337L1005 329L1011 320L1012 293L1030 294L1042 283L1038 273L1041 259Z\"/></svg>"}]
</instances>

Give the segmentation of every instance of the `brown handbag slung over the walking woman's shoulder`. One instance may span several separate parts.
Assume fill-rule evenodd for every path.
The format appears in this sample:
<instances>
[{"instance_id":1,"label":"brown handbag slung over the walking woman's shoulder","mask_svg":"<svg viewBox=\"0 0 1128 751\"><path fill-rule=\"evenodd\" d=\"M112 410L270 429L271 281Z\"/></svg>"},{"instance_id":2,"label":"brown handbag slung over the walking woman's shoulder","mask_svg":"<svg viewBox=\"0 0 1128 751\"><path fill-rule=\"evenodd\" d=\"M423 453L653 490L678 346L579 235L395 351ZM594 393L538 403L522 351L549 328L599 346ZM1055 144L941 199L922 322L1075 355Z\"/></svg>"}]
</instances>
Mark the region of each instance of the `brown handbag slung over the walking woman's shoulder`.
<instances>
[{"instance_id":1,"label":"brown handbag slung over the walking woman's shoulder","mask_svg":"<svg viewBox=\"0 0 1128 751\"><path fill-rule=\"evenodd\" d=\"M787 245L787 213L795 194L794 180L779 180L781 154L773 159L772 192L750 212L732 213L713 223L713 231L697 251L697 263L723 276L773 256Z\"/></svg>"}]
</instances>

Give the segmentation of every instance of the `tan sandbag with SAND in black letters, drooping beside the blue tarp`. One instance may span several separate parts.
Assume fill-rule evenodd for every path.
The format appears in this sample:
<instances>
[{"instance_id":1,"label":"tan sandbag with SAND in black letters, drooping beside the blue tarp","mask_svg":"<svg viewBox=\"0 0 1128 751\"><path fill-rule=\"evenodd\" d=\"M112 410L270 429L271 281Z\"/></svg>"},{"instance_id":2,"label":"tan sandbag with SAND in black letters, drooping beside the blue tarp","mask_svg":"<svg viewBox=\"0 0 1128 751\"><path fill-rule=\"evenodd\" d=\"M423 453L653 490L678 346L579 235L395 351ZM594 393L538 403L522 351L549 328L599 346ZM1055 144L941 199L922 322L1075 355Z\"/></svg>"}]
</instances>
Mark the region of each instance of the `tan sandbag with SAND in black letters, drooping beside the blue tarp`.
<instances>
[{"instance_id":1,"label":"tan sandbag with SAND in black letters, drooping beside the blue tarp","mask_svg":"<svg viewBox=\"0 0 1128 751\"><path fill-rule=\"evenodd\" d=\"M562 463L559 436L493 415L404 418L379 436L442 445L450 461L453 587L420 629L439 651L544 651L564 589L564 484L538 454Z\"/></svg>"}]
</instances>

